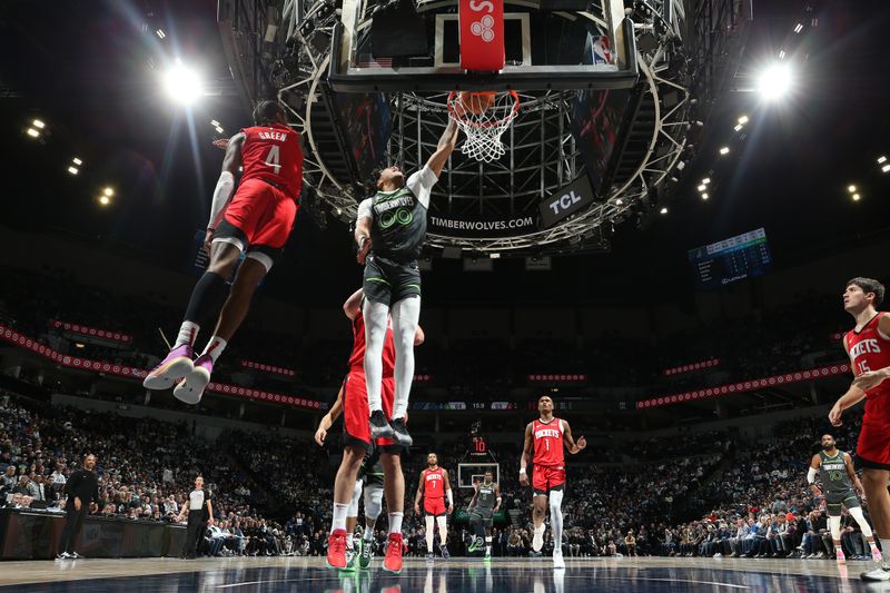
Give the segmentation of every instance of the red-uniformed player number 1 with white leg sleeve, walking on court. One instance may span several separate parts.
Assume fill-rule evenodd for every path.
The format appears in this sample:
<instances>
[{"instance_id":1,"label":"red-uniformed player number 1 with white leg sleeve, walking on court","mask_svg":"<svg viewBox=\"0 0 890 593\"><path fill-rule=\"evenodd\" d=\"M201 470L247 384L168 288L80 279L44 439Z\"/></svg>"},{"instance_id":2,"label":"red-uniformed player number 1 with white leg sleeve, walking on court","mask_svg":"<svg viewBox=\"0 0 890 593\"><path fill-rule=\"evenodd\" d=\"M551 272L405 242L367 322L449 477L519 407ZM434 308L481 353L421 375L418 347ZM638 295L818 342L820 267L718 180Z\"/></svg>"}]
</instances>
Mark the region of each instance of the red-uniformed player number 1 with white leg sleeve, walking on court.
<instances>
[{"instance_id":1,"label":"red-uniformed player number 1 with white leg sleeve, walking on court","mask_svg":"<svg viewBox=\"0 0 890 593\"><path fill-rule=\"evenodd\" d=\"M544 516L547 514L550 503L550 524L553 531L553 567L565 569L563 560L563 493L565 491L565 455L563 446L568 453L576 454L587 446L584 437L577 443L572 438L572 428L564 419L553 415L553 399L548 395L541 396L537 401L537 411L541 417L528 423L525 427L525 443L520 459L520 484L528 485L526 467L532 448L535 451L532 464L534 487L534 511L532 518L535 530L532 537L532 550L541 552L544 546Z\"/></svg>"}]
</instances>

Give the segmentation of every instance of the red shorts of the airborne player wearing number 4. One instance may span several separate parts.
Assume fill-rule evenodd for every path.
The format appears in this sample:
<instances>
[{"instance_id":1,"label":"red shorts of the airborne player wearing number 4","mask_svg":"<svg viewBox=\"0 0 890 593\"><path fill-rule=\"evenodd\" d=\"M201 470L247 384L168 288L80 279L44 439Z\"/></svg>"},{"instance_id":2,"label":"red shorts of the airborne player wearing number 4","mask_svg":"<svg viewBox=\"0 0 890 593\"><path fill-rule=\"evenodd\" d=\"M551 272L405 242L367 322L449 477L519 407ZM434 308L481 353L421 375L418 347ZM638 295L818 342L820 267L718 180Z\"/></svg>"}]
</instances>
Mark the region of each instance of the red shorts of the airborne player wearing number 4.
<instances>
[{"instance_id":1,"label":"red shorts of the airborne player wearing number 4","mask_svg":"<svg viewBox=\"0 0 890 593\"><path fill-rule=\"evenodd\" d=\"M248 179L238 186L222 218L244 234L248 245L280 249L294 229L297 210L297 204L281 189Z\"/></svg>"}]
</instances>

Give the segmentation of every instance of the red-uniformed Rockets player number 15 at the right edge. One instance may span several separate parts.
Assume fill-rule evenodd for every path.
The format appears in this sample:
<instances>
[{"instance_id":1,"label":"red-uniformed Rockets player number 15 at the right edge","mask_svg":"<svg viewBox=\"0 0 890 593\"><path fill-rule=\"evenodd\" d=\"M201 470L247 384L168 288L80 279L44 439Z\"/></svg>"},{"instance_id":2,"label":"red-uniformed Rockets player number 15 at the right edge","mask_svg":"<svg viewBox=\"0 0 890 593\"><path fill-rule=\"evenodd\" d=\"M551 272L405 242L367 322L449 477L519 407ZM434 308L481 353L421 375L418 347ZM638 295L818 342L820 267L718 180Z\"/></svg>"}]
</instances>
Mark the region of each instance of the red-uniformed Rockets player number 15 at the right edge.
<instances>
[{"instance_id":1,"label":"red-uniformed Rockets player number 15 at the right edge","mask_svg":"<svg viewBox=\"0 0 890 593\"><path fill-rule=\"evenodd\" d=\"M843 412L866 399L866 414L856 447L857 464L862 467L862 486L869 514L881 541L883 555L890 550L890 315L876 307L883 302L884 288L872 278L853 278L843 291L843 308L856 326L843 336L850 357L853 384L829 412L834 426L842 424ZM884 560L877 569L862 573L863 581L890 581Z\"/></svg>"}]
</instances>

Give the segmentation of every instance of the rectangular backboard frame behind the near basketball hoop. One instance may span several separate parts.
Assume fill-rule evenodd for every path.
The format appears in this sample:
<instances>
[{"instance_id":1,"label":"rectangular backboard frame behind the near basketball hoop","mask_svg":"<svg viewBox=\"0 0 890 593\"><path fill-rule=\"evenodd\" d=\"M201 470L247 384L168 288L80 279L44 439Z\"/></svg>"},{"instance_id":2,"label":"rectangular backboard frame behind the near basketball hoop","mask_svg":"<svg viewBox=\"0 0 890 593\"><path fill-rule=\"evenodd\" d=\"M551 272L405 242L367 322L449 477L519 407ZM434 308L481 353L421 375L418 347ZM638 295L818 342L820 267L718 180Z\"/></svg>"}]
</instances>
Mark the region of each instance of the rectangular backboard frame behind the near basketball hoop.
<instances>
[{"instance_id":1,"label":"rectangular backboard frame behind the near basketball hoop","mask_svg":"<svg viewBox=\"0 0 890 593\"><path fill-rule=\"evenodd\" d=\"M436 4L442 4L436 2ZM524 3L528 6L528 3ZM626 89L639 79L636 45L633 22L624 17L622 0L604 2L605 30L612 40L616 55L615 63L530 63L527 55L523 59L507 59L497 72L475 72L462 69L458 65L446 62L436 48L435 61L428 66L393 66L387 61L363 67L358 47L359 38L372 26L372 19L363 18L362 0L344 0L339 22L334 27L328 66L328 82L338 92L432 92L449 90L571 90L571 89ZM614 4L614 6L613 6ZM616 7L621 6L621 10ZM432 9L431 9L432 10ZM427 18L433 13L422 12ZM565 13L571 19L596 19L587 12ZM516 19L518 13L507 12L505 23ZM619 17L620 16L620 17ZM527 17L523 34L527 36ZM436 13L436 43L446 23L456 14ZM602 21L600 21L602 22ZM523 39L527 49L533 39Z\"/></svg>"}]
</instances>

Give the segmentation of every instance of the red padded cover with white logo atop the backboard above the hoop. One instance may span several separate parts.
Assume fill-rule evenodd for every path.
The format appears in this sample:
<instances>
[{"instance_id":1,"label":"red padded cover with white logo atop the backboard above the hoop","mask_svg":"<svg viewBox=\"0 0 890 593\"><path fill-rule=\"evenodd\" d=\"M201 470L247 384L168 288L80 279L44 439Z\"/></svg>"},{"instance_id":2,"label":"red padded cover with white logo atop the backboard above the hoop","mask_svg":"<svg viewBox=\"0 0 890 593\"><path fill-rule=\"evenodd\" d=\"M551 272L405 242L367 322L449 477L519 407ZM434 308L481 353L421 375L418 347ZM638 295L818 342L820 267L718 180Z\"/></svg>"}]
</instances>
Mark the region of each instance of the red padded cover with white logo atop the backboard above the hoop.
<instances>
[{"instance_id":1,"label":"red padded cover with white logo atop the backboard above the hoop","mask_svg":"<svg viewBox=\"0 0 890 593\"><path fill-rule=\"evenodd\" d=\"M504 68L504 0L461 0L461 68Z\"/></svg>"}]
</instances>

